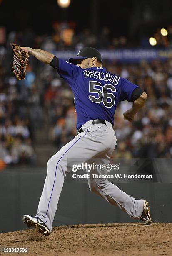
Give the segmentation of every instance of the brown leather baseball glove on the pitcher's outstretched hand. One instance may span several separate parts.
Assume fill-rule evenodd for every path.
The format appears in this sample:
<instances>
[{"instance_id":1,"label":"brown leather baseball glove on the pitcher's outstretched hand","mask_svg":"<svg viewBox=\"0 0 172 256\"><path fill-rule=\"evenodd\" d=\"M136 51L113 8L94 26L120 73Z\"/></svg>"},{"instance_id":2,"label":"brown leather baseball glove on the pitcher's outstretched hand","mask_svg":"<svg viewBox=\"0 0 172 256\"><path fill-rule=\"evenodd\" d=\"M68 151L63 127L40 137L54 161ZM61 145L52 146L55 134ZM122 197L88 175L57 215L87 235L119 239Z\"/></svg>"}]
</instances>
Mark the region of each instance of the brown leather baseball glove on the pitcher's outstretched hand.
<instances>
[{"instance_id":1,"label":"brown leather baseball glove on the pitcher's outstretched hand","mask_svg":"<svg viewBox=\"0 0 172 256\"><path fill-rule=\"evenodd\" d=\"M28 56L25 51L23 51L20 46L12 43L10 44L13 50L13 64L12 70L15 74L17 80L25 79L26 67L28 64Z\"/></svg>"}]
</instances>

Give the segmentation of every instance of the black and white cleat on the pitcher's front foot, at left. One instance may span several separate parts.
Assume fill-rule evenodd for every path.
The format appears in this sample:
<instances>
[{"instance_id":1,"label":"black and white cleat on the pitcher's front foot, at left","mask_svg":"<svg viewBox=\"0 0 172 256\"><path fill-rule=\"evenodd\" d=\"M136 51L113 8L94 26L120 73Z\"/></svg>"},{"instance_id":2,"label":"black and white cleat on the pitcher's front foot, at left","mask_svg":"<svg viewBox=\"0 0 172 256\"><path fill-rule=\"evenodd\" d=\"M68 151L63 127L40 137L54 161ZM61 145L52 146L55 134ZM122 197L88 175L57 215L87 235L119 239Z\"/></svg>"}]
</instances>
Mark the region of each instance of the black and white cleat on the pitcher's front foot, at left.
<instances>
[{"instance_id":1,"label":"black and white cleat on the pitcher's front foot, at left","mask_svg":"<svg viewBox=\"0 0 172 256\"><path fill-rule=\"evenodd\" d=\"M47 228L45 223L38 217L31 217L29 215L24 215L22 218L23 222L28 228L37 228L38 232L44 236L49 236L51 234L50 230Z\"/></svg>"}]
</instances>

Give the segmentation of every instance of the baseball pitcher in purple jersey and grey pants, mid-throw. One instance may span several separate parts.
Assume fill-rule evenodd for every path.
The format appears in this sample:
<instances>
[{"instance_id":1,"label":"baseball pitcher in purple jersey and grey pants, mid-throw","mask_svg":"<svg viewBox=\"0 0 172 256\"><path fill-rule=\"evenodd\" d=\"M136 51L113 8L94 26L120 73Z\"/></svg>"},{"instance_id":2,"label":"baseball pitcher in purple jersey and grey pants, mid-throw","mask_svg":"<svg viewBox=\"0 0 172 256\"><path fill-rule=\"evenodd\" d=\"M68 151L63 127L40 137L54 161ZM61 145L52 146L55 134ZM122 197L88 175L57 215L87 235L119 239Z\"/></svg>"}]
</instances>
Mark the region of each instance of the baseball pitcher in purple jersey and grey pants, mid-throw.
<instances>
[{"instance_id":1,"label":"baseball pitcher in purple jersey and grey pants, mid-throw","mask_svg":"<svg viewBox=\"0 0 172 256\"><path fill-rule=\"evenodd\" d=\"M102 57L95 48L85 47L69 62L53 54L21 47L27 55L32 54L43 63L57 70L65 79L75 96L77 113L77 136L63 146L47 163L47 177L40 197L37 214L23 216L28 227L37 228L45 236L51 234L52 222L62 191L69 159L101 159L100 164L109 164L116 145L114 114L117 103L122 100L133 102L132 108L123 115L132 122L135 114L145 104L147 95L137 85L116 76L102 67ZM96 173L96 170L92 170ZM150 209L146 200L137 200L107 179L88 179L92 192L105 198L107 202L119 207L132 218L151 224Z\"/></svg>"}]
</instances>

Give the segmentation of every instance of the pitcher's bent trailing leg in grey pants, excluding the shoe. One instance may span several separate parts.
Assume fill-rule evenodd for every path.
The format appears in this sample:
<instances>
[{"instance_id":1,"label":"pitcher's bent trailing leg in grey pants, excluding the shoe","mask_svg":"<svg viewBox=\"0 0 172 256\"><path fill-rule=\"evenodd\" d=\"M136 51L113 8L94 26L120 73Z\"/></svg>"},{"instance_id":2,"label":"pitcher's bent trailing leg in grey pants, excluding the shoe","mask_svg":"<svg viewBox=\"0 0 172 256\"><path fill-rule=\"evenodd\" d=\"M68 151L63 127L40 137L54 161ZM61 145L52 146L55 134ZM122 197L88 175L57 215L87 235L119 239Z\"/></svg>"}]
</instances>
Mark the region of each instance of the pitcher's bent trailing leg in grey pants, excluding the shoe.
<instances>
[{"instance_id":1,"label":"pitcher's bent trailing leg in grey pants, excluding the shoe","mask_svg":"<svg viewBox=\"0 0 172 256\"><path fill-rule=\"evenodd\" d=\"M106 158L99 159L99 163L102 165L107 165L110 162L109 155L110 151L107 152ZM105 156L104 156L105 157ZM88 172L87 172L88 173ZM89 188L92 192L96 193L97 195L100 195L103 197L107 202L109 202L112 205L115 205L119 207L121 210L126 212L128 215L135 219L139 219L143 212L143 200L137 200L130 195L127 195L125 192L120 190L117 186L109 182L106 178L96 178L95 175L106 175L106 170L100 170L100 167L96 170L91 170L89 172L90 179L88 179Z\"/></svg>"}]
</instances>

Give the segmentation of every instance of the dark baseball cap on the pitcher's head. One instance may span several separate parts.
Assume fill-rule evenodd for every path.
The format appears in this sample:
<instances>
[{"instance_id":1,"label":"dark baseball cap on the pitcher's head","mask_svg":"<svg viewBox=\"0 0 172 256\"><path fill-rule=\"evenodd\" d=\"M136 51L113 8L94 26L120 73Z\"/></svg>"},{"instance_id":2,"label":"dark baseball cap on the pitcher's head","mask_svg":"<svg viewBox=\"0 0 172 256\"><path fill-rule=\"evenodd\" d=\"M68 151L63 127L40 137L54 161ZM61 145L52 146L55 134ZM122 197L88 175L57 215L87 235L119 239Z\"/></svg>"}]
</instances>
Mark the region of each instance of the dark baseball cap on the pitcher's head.
<instances>
[{"instance_id":1,"label":"dark baseball cap on the pitcher's head","mask_svg":"<svg viewBox=\"0 0 172 256\"><path fill-rule=\"evenodd\" d=\"M93 47L84 47L78 52L76 57L70 58L69 62L76 65L77 59L87 59L87 58L93 58L93 57L96 57L97 61L102 62L102 56L100 52L97 51L97 49Z\"/></svg>"}]
</instances>

